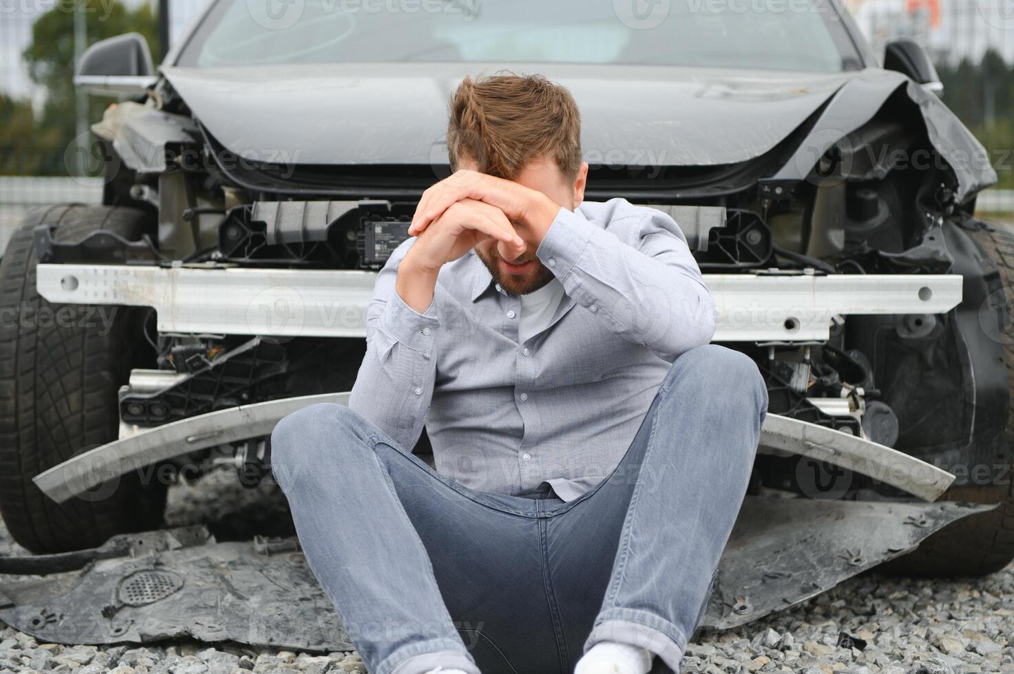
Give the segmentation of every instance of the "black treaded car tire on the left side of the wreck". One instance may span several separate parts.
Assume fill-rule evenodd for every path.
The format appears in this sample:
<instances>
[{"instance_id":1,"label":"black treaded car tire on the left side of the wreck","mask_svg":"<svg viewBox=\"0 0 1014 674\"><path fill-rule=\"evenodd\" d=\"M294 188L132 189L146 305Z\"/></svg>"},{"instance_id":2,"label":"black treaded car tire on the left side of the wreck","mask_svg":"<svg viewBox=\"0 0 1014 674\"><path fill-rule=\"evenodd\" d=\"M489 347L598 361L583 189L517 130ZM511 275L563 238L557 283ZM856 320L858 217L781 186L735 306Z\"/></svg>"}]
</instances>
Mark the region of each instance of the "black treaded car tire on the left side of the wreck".
<instances>
[{"instance_id":1,"label":"black treaded car tire on the left side of the wreck","mask_svg":"<svg viewBox=\"0 0 1014 674\"><path fill-rule=\"evenodd\" d=\"M34 552L93 547L162 520L166 484L154 473L124 475L63 504L31 481L117 439L118 389L136 363L150 358L138 344L137 310L101 307L102 321L96 307L50 304L39 295L32 229L54 224L62 241L97 229L136 240L146 217L118 207L41 209L25 218L0 259L0 515L14 540Z\"/></svg>"}]
</instances>

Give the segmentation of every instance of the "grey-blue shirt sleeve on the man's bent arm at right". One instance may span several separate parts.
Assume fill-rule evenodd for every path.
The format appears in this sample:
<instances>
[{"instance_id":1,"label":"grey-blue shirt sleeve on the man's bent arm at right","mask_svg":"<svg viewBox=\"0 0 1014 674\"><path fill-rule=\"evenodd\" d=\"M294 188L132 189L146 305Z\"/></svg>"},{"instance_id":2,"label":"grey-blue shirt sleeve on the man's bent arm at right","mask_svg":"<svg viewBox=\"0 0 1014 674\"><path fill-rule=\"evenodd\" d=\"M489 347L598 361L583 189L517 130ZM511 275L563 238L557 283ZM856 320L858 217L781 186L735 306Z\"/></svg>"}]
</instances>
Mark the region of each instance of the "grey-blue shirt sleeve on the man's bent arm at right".
<instances>
[{"instance_id":1,"label":"grey-blue shirt sleeve on the man's bent arm at right","mask_svg":"<svg viewBox=\"0 0 1014 674\"><path fill-rule=\"evenodd\" d=\"M661 211L617 213L606 230L561 208L535 254L577 304L666 361L715 333L715 303L701 270Z\"/></svg>"}]
</instances>

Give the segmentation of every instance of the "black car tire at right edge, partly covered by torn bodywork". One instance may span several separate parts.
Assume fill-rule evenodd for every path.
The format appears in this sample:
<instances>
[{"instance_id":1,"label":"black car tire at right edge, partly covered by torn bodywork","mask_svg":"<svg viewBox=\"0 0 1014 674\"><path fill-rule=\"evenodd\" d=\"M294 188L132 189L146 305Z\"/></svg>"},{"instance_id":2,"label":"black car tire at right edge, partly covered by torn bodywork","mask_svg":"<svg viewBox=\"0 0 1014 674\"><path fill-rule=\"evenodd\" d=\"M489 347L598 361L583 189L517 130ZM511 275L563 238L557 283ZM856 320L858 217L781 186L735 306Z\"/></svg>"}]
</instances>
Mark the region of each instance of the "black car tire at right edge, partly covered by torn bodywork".
<instances>
[{"instance_id":1,"label":"black car tire at right edge, partly covered by torn bodywork","mask_svg":"<svg viewBox=\"0 0 1014 674\"><path fill-rule=\"evenodd\" d=\"M993 227L968 231L1000 274L1006 294L1007 322L1002 336L1004 365L1010 382L1007 438L1014 443L1014 235ZM1008 445L1010 446L1010 445ZM927 538L914 551L885 565L890 573L919 577L985 576L1014 559L1014 469L996 484L949 489L941 500L1000 506L950 524Z\"/></svg>"}]
</instances>

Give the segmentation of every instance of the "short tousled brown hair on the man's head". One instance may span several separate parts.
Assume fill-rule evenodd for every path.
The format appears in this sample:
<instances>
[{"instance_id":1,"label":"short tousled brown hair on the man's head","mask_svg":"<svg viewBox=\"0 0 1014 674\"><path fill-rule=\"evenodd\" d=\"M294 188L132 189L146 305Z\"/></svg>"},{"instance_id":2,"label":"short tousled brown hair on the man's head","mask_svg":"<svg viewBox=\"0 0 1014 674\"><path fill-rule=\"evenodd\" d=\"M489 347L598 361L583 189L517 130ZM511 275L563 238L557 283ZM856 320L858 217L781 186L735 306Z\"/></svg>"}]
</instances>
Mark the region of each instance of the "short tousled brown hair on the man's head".
<instances>
[{"instance_id":1,"label":"short tousled brown hair on the man's head","mask_svg":"<svg viewBox=\"0 0 1014 674\"><path fill-rule=\"evenodd\" d=\"M581 167L581 116L563 86L541 75L465 77L450 103L447 150L452 168L513 179L536 157L556 160L570 179Z\"/></svg>"}]
</instances>

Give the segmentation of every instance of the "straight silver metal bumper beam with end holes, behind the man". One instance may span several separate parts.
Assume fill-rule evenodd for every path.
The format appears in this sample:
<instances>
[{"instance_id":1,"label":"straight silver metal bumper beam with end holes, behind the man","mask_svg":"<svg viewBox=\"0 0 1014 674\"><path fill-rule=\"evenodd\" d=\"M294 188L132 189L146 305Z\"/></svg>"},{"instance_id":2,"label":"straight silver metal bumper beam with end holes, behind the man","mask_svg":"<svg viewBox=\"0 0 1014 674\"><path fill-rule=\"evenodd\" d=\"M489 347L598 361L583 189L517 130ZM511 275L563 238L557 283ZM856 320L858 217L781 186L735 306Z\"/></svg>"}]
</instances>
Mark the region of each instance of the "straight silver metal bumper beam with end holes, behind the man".
<instances>
[{"instance_id":1,"label":"straight silver metal bumper beam with end holes, behind the man","mask_svg":"<svg viewBox=\"0 0 1014 674\"><path fill-rule=\"evenodd\" d=\"M39 293L61 304L150 306L161 332L365 336L376 275L117 265L39 265ZM829 338L831 317L943 313L961 301L957 275L705 275L716 342Z\"/></svg>"}]
</instances>

